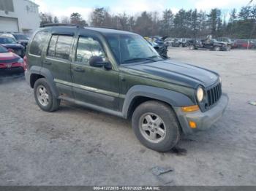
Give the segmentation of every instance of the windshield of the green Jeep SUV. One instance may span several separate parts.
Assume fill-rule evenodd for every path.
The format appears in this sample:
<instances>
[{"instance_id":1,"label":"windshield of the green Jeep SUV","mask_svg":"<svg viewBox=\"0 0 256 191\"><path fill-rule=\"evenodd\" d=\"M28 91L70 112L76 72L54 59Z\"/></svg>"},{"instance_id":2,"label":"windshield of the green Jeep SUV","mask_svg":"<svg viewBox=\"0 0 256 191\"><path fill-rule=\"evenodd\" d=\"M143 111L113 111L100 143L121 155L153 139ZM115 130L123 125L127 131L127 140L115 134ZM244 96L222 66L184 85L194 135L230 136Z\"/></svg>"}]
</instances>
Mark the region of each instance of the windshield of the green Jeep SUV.
<instances>
[{"instance_id":1,"label":"windshield of the green Jeep SUV","mask_svg":"<svg viewBox=\"0 0 256 191\"><path fill-rule=\"evenodd\" d=\"M136 34L109 34L108 43L119 63L150 61L149 58L160 58L154 47L143 37Z\"/></svg>"}]
</instances>

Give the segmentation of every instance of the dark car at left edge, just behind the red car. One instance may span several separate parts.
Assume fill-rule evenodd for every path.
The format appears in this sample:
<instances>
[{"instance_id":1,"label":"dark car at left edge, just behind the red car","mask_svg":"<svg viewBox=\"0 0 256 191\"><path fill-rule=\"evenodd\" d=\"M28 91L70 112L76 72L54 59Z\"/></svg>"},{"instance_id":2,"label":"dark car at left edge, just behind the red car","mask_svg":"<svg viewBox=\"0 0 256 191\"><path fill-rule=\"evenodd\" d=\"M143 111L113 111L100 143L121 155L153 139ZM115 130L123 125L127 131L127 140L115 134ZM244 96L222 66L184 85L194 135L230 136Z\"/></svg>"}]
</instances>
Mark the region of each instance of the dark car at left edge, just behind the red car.
<instances>
[{"instance_id":1,"label":"dark car at left edge, just behind the red car","mask_svg":"<svg viewBox=\"0 0 256 191\"><path fill-rule=\"evenodd\" d=\"M18 44L15 39L6 36L0 36L0 44L22 58L25 55L25 47L23 47L21 44Z\"/></svg>"}]
</instances>

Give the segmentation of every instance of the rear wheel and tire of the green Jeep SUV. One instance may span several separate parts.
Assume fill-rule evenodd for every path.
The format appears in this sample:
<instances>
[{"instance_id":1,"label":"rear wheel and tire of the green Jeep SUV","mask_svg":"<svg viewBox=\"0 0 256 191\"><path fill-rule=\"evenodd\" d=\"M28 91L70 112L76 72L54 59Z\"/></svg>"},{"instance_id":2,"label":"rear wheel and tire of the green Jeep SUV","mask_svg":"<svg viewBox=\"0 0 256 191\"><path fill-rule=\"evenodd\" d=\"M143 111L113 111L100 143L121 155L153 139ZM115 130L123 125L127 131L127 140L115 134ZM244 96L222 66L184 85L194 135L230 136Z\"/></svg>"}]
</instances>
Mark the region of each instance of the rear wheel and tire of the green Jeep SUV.
<instances>
[{"instance_id":1,"label":"rear wheel and tire of the green Jeep SUV","mask_svg":"<svg viewBox=\"0 0 256 191\"><path fill-rule=\"evenodd\" d=\"M34 98L40 109L45 112L54 112L59 109L61 101L53 97L50 86L45 78L37 79L34 84Z\"/></svg>"}]
</instances>

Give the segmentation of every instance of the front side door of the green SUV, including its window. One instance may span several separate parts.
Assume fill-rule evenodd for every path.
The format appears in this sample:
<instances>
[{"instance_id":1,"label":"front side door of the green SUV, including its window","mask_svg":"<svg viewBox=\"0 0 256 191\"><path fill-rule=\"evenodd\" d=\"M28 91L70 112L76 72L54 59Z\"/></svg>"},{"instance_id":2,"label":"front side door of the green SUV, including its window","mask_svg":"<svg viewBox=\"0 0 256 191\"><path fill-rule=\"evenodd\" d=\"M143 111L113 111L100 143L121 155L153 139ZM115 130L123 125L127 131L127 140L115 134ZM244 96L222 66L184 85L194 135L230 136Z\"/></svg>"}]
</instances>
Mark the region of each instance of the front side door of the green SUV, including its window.
<instances>
[{"instance_id":1,"label":"front side door of the green SUV, including its window","mask_svg":"<svg viewBox=\"0 0 256 191\"><path fill-rule=\"evenodd\" d=\"M89 65L92 56L108 60L102 43L94 34L78 35L73 58L72 86L75 99L86 104L117 110L119 101L119 72Z\"/></svg>"}]
</instances>

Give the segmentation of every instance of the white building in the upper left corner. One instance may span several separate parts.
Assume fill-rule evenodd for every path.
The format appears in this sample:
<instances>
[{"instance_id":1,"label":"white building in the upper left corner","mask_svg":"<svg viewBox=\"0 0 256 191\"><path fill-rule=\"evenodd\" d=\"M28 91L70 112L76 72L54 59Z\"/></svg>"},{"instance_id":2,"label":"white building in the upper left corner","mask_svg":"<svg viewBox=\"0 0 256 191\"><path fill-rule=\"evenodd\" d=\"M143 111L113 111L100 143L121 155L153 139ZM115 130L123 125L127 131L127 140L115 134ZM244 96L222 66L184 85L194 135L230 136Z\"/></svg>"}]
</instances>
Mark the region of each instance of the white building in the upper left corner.
<instances>
[{"instance_id":1,"label":"white building in the upper left corner","mask_svg":"<svg viewBox=\"0 0 256 191\"><path fill-rule=\"evenodd\" d=\"M38 7L30 0L0 0L0 33L32 34L40 26Z\"/></svg>"}]
</instances>

